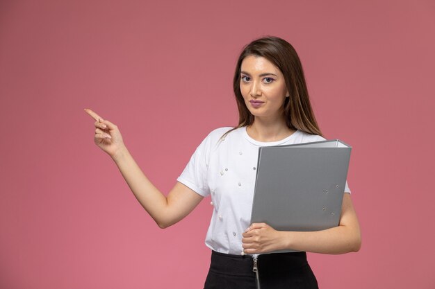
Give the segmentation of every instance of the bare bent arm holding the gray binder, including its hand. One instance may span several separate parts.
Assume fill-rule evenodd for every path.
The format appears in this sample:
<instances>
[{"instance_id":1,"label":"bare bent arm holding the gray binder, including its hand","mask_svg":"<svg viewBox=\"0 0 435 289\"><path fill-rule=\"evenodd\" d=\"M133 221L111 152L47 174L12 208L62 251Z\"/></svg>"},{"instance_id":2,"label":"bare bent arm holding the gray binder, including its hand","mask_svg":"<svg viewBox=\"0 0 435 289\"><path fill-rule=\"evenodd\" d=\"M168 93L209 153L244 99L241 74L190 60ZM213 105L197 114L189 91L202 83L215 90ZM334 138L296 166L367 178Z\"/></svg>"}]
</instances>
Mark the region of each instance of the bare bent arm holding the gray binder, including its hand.
<instances>
[{"instance_id":1,"label":"bare bent arm holding the gray binder, including its hand","mask_svg":"<svg viewBox=\"0 0 435 289\"><path fill-rule=\"evenodd\" d=\"M361 247L361 231L349 193L343 196L338 227L322 231L277 231L265 223L254 223L243 233L243 252L258 254L279 249L343 254Z\"/></svg>"}]
</instances>

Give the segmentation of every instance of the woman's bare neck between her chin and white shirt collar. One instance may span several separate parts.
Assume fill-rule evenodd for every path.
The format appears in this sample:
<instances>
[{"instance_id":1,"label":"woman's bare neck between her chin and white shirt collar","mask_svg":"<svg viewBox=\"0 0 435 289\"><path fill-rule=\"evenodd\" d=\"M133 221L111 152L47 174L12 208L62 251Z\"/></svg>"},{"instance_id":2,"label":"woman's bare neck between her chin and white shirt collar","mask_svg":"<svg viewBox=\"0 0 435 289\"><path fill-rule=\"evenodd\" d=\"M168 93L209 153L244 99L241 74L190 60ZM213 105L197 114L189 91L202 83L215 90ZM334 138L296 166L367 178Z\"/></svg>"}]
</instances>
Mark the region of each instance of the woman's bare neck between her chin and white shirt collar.
<instances>
[{"instance_id":1,"label":"woman's bare neck between her chin and white shirt collar","mask_svg":"<svg viewBox=\"0 0 435 289\"><path fill-rule=\"evenodd\" d=\"M281 141L295 132L295 130L288 128L284 119L265 121L259 118L255 118L254 123L249 125L246 131L252 139L265 142Z\"/></svg>"}]
</instances>

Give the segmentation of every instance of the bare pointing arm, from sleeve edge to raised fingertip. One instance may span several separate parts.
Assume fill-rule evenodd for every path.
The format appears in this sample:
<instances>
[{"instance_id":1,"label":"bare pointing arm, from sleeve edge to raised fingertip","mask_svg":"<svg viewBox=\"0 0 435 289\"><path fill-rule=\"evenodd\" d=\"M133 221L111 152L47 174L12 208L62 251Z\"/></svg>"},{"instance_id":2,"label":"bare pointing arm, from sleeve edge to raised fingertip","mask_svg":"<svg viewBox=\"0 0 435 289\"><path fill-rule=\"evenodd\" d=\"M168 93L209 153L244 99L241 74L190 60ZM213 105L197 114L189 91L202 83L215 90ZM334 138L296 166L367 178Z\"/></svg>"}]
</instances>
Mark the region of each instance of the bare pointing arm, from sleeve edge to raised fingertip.
<instances>
[{"instance_id":1,"label":"bare pointing arm, from sleeve edge to raised fingertip","mask_svg":"<svg viewBox=\"0 0 435 289\"><path fill-rule=\"evenodd\" d=\"M136 199L158 227L174 225L197 207L204 197L180 182L175 184L167 196L158 191L127 150L117 126L92 110L86 109L85 112L95 119L95 144L112 157Z\"/></svg>"}]
</instances>

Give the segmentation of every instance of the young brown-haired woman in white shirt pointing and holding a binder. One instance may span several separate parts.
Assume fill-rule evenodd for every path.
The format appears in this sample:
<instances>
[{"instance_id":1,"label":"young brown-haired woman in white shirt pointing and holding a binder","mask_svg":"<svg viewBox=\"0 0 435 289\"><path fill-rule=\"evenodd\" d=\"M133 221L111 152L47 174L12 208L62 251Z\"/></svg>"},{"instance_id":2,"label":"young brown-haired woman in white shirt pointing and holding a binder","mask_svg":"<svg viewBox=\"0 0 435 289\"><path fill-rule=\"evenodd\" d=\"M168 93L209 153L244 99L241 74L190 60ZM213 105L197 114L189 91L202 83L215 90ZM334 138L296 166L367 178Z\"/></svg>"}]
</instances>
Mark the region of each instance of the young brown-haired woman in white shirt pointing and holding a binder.
<instances>
[{"instance_id":1,"label":"young brown-haired woman in white shirt pointing and holding a binder","mask_svg":"<svg viewBox=\"0 0 435 289\"><path fill-rule=\"evenodd\" d=\"M206 245L212 258L205 288L318 288L305 252L343 254L361 246L347 186L338 227L301 232L249 224L258 147L324 140L293 46L278 37L245 46L233 88L238 126L208 134L167 197L142 173L117 126L91 110L86 112L95 119L95 143L112 157L159 227L174 225L211 195L214 211ZM278 249L299 252L262 254Z\"/></svg>"}]
</instances>

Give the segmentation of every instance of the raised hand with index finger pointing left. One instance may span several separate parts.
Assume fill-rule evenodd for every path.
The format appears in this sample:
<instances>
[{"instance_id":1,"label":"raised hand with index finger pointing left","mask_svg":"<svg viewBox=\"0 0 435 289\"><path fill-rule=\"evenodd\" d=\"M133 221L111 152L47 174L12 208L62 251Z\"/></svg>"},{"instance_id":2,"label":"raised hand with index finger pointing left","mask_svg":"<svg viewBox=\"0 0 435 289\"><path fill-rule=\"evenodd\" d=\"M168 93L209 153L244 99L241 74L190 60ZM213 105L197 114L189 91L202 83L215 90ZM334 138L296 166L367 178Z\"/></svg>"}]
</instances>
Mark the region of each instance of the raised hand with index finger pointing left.
<instances>
[{"instance_id":1,"label":"raised hand with index finger pointing left","mask_svg":"<svg viewBox=\"0 0 435 289\"><path fill-rule=\"evenodd\" d=\"M120 130L118 130L116 125L110 123L110 121L104 120L101 116L92 112L92 110L86 108L85 112L89 114L92 119L95 119L95 144L99 146L101 150L107 152L110 157L115 157L117 152L120 152L120 150L125 147Z\"/></svg>"}]
</instances>

